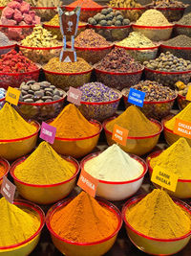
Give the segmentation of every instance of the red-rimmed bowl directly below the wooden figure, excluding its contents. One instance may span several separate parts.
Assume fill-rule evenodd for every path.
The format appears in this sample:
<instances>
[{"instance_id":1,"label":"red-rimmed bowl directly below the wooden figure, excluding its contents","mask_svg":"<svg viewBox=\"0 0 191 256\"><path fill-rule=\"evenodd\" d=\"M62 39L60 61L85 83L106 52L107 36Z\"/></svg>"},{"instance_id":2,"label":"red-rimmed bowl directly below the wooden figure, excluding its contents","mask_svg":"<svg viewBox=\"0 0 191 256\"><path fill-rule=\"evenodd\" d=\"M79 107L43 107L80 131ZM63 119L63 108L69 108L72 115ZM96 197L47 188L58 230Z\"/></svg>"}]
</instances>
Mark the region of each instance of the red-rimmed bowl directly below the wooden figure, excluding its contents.
<instances>
[{"instance_id":1,"label":"red-rimmed bowl directly below the wooden figure, excluding its contents","mask_svg":"<svg viewBox=\"0 0 191 256\"><path fill-rule=\"evenodd\" d=\"M70 86L76 88L88 83L91 79L93 68L78 73L58 73L43 68L46 81L50 81L55 86L67 90Z\"/></svg>"}]
</instances>

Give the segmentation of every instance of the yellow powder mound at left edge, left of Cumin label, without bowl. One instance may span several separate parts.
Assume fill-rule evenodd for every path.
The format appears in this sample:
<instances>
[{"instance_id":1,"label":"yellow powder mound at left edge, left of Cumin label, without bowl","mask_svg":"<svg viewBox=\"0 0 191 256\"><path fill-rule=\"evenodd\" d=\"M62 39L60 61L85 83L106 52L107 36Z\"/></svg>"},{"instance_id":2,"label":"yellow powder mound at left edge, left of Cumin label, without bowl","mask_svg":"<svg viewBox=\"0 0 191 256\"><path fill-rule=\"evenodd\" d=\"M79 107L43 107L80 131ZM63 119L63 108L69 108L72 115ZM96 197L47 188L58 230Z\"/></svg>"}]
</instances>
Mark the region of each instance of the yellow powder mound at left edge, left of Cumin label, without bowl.
<instances>
[{"instance_id":1,"label":"yellow powder mound at left edge, left of Cumin label, without bowl","mask_svg":"<svg viewBox=\"0 0 191 256\"><path fill-rule=\"evenodd\" d=\"M37 128L26 122L8 103L0 110L0 140L32 135Z\"/></svg>"}]
</instances>

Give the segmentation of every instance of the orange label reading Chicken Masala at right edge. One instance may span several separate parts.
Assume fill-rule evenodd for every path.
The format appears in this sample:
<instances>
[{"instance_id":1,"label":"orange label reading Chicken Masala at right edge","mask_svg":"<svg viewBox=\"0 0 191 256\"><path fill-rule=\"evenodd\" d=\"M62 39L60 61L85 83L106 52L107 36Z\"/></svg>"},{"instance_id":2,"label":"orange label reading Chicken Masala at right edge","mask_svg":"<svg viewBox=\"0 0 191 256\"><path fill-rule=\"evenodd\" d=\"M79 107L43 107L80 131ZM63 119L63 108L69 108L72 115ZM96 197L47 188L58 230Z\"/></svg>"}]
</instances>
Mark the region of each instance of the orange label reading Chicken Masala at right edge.
<instances>
[{"instance_id":1,"label":"orange label reading Chicken Masala at right edge","mask_svg":"<svg viewBox=\"0 0 191 256\"><path fill-rule=\"evenodd\" d=\"M177 118L175 122L174 133L191 139L191 123Z\"/></svg>"}]
</instances>

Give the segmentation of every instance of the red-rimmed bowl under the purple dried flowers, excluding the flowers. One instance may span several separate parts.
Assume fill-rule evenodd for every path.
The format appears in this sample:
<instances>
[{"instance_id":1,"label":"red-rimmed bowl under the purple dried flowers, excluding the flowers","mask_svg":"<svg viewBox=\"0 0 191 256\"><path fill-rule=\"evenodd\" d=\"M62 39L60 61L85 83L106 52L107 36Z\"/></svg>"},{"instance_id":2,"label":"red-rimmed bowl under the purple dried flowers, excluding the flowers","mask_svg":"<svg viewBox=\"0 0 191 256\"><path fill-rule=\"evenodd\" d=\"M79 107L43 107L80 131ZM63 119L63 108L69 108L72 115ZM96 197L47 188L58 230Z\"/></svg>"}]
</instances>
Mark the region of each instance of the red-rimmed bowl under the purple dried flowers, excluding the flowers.
<instances>
[{"instance_id":1,"label":"red-rimmed bowl under the purple dried flowers, excluding the flowers","mask_svg":"<svg viewBox=\"0 0 191 256\"><path fill-rule=\"evenodd\" d=\"M115 115L117 112L117 107L119 105L120 99L122 98L122 94L118 90L114 89L114 91L118 94L116 100L97 103L81 102L81 105L77 105L77 107L86 119L94 119L102 122L106 118Z\"/></svg>"}]
</instances>

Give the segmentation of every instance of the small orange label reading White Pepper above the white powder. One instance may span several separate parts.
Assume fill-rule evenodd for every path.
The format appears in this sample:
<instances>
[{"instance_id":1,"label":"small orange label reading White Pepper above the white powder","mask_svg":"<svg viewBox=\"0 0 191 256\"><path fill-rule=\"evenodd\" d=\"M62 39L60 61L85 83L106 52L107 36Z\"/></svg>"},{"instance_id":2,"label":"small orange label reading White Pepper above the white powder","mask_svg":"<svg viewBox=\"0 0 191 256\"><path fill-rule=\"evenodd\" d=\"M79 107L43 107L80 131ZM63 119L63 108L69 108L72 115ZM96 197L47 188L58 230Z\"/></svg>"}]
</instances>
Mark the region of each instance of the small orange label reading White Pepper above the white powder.
<instances>
[{"instance_id":1,"label":"small orange label reading White Pepper above the white powder","mask_svg":"<svg viewBox=\"0 0 191 256\"><path fill-rule=\"evenodd\" d=\"M115 125L112 139L115 140L118 144L126 146L128 133L129 131L127 129L120 128L119 126Z\"/></svg>"}]
</instances>

